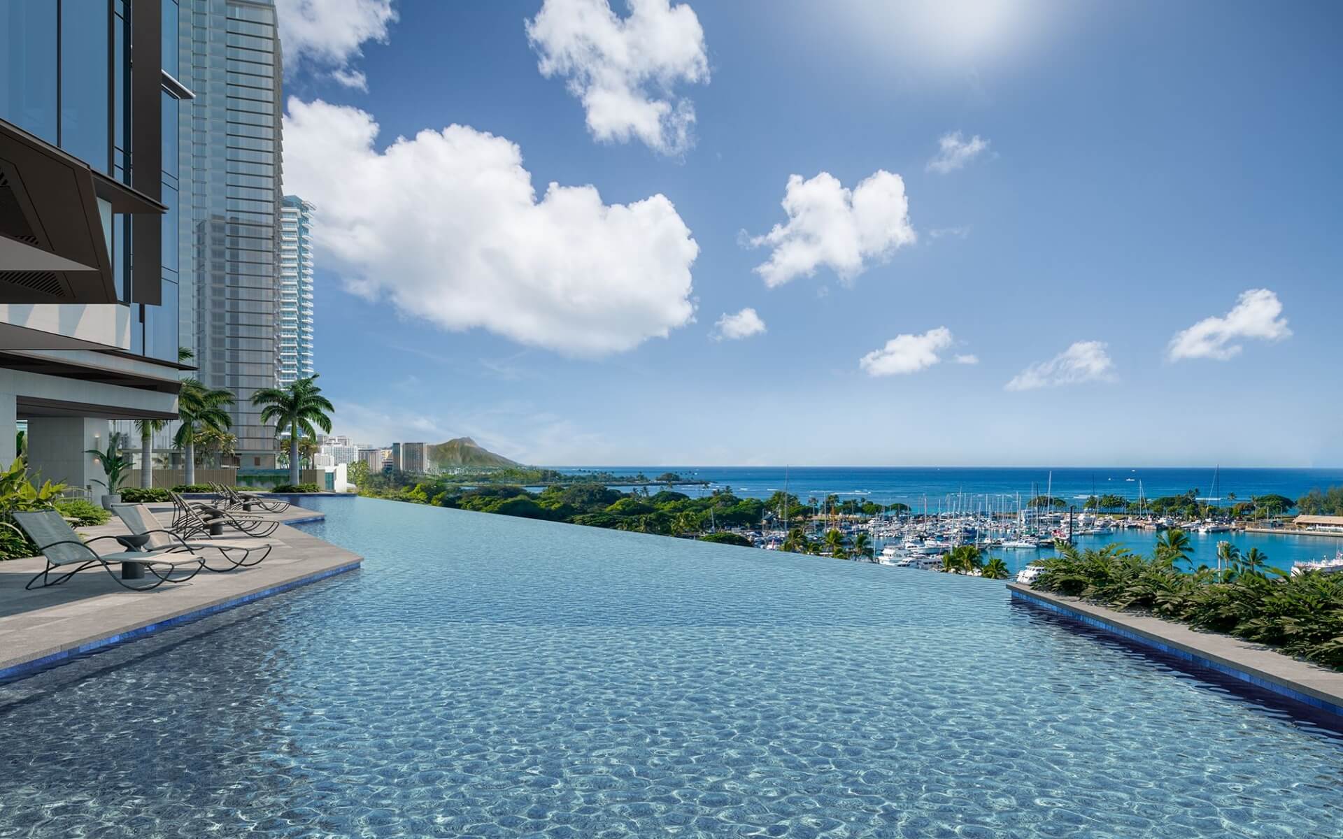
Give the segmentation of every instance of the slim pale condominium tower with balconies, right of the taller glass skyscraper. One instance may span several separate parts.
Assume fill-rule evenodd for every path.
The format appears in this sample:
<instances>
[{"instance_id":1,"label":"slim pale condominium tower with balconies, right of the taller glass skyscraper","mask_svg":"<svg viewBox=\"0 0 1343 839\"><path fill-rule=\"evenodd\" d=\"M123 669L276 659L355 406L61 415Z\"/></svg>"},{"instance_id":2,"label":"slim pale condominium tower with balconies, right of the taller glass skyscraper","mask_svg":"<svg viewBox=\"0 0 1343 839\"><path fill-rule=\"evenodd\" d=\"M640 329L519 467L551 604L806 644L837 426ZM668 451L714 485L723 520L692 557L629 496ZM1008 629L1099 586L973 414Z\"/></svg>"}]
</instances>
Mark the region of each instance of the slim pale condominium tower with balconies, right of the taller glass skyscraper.
<instances>
[{"instance_id":1,"label":"slim pale condominium tower with balconies, right of the taller glass skyscraper","mask_svg":"<svg viewBox=\"0 0 1343 839\"><path fill-rule=\"evenodd\" d=\"M313 375L313 205L286 195L279 215L279 321L275 381Z\"/></svg>"}]
</instances>

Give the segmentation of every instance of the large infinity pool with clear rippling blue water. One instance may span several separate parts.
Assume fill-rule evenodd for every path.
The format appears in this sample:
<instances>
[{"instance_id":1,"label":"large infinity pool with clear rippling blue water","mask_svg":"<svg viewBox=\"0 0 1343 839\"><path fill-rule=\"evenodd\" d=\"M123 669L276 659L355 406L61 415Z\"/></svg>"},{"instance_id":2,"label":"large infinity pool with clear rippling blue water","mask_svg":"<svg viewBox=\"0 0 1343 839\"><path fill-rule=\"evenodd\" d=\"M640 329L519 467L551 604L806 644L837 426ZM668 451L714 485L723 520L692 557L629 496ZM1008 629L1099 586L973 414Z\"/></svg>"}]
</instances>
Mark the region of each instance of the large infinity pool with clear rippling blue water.
<instances>
[{"instance_id":1,"label":"large infinity pool with clear rippling blue water","mask_svg":"<svg viewBox=\"0 0 1343 839\"><path fill-rule=\"evenodd\" d=\"M361 572L0 686L0 836L1343 831L1343 740L1001 583L309 503Z\"/></svg>"}]
</instances>

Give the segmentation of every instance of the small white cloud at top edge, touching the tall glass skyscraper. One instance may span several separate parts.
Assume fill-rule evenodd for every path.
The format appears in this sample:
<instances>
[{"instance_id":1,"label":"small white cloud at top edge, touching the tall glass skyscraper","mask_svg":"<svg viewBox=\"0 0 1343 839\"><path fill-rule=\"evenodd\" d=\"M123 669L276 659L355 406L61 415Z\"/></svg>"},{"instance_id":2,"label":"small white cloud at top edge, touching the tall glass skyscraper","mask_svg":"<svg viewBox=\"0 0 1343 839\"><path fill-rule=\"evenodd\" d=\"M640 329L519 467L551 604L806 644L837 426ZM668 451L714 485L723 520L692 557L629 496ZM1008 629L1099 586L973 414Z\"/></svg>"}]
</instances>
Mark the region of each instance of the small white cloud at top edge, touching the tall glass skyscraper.
<instances>
[{"instance_id":1,"label":"small white cloud at top edge, touching the tall glass skyscraper","mask_svg":"<svg viewBox=\"0 0 1343 839\"><path fill-rule=\"evenodd\" d=\"M387 43L396 21L392 0L277 0L285 70L304 63L326 71L345 87L368 90L368 79L349 63L363 56L365 40Z\"/></svg>"}]
</instances>

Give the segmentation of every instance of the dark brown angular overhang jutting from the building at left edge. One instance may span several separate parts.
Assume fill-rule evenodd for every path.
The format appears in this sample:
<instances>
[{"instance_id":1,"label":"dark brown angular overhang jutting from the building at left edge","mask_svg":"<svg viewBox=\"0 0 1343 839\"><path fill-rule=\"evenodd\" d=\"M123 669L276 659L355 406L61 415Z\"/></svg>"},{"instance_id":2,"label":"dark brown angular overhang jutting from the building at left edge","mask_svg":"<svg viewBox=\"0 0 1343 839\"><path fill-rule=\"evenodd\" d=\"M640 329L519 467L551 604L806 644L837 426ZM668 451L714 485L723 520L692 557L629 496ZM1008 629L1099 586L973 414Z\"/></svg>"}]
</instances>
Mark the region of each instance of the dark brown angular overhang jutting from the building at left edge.
<instances>
[{"instance_id":1,"label":"dark brown angular overhang jutting from the building at left edge","mask_svg":"<svg viewBox=\"0 0 1343 839\"><path fill-rule=\"evenodd\" d=\"M109 213L160 201L0 119L0 302L115 303Z\"/></svg>"}]
</instances>

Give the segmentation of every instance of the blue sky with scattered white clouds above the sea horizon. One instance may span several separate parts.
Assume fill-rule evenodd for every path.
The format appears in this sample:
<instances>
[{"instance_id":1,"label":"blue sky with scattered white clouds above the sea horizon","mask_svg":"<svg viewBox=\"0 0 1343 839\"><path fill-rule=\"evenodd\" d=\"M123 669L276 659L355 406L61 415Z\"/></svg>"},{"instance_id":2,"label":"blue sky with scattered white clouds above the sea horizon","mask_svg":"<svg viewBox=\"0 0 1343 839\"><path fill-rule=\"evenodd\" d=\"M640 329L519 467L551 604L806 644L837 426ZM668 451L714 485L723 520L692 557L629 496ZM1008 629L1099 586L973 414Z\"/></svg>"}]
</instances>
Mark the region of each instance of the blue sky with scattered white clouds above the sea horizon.
<instances>
[{"instance_id":1,"label":"blue sky with scattered white clouds above the sea horizon","mask_svg":"<svg viewBox=\"0 0 1343 839\"><path fill-rule=\"evenodd\" d=\"M1343 463L1335 4L279 5L337 432Z\"/></svg>"}]
</instances>

